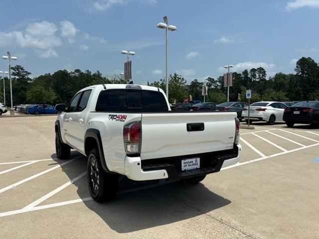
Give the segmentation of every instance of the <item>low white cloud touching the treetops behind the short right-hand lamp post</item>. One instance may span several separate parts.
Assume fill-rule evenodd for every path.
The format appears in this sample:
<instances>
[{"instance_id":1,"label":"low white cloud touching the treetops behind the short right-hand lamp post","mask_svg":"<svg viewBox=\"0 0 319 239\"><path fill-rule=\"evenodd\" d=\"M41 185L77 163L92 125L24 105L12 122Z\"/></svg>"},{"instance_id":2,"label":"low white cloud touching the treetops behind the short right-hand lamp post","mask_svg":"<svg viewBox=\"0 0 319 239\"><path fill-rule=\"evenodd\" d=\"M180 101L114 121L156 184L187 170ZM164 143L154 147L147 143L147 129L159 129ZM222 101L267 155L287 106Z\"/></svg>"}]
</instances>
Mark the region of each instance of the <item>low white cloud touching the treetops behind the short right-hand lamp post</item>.
<instances>
[{"instance_id":1,"label":"low white cloud touching the treetops behind the short right-hand lamp post","mask_svg":"<svg viewBox=\"0 0 319 239\"><path fill-rule=\"evenodd\" d=\"M276 65L275 64L268 64L264 62L241 62L237 63L234 65L233 68L230 68L232 72L238 72L241 73L243 70L250 70L252 68L258 68L262 67L267 71L267 75L273 75L273 73L276 70ZM218 67L218 72L219 73L226 73L226 70L224 67Z\"/></svg>"}]
</instances>

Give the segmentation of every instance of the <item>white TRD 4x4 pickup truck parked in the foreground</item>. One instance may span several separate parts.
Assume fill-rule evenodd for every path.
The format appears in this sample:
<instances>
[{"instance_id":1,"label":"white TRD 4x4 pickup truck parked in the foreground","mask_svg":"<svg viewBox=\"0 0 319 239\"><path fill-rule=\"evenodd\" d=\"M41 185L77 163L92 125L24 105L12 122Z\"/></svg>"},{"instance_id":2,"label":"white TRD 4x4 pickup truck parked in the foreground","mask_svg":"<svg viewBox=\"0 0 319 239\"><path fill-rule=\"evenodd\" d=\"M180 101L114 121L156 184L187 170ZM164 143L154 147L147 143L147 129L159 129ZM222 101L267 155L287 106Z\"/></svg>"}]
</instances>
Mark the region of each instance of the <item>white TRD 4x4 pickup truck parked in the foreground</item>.
<instances>
[{"instance_id":1,"label":"white TRD 4x4 pickup truck parked in the foreground","mask_svg":"<svg viewBox=\"0 0 319 239\"><path fill-rule=\"evenodd\" d=\"M181 179L197 184L206 174L238 162L242 147L235 112L173 112L157 87L106 84L79 91L55 122L56 156L70 149L88 157L91 196L116 196L119 176L136 181Z\"/></svg>"}]
</instances>

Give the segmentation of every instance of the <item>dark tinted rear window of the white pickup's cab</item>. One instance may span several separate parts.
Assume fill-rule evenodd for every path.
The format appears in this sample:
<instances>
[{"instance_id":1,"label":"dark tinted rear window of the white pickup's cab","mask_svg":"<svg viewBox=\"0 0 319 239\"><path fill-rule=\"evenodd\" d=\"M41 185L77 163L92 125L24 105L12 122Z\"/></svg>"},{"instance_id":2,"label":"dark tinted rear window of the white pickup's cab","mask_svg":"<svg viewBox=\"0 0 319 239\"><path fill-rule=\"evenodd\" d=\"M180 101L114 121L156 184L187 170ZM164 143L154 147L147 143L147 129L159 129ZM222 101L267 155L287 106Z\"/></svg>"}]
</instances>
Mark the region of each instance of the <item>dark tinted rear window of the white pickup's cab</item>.
<instances>
[{"instance_id":1,"label":"dark tinted rear window of the white pickup's cab","mask_svg":"<svg viewBox=\"0 0 319 239\"><path fill-rule=\"evenodd\" d=\"M166 100L159 91L105 90L96 104L96 111L168 111Z\"/></svg>"}]
</instances>

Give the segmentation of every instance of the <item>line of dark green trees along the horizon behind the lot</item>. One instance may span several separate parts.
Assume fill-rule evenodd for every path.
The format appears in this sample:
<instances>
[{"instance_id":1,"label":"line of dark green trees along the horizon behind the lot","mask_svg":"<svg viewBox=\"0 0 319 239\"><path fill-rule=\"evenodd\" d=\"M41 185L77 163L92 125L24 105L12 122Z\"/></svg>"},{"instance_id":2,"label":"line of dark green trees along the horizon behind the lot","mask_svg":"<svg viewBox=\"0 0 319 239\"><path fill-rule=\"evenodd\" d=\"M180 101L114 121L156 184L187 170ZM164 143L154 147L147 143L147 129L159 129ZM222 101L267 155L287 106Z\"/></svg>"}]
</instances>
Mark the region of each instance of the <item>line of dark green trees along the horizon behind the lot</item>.
<instances>
[{"instance_id":1,"label":"line of dark green trees along the horizon behind the lot","mask_svg":"<svg viewBox=\"0 0 319 239\"><path fill-rule=\"evenodd\" d=\"M68 104L72 97L80 89L97 84L128 84L122 75L111 77L79 69L74 71L58 70L53 74L44 74L31 79L30 72L22 66L11 67L12 70L12 95L13 105L18 104ZM319 99L319 64L312 58L302 57L296 63L295 74L277 73L273 77L267 77L264 68L246 69L242 73L234 73L233 86L230 87L230 101L246 101L246 90L252 90L251 102L257 101L302 101ZM206 101L227 101L227 88L224 87L224 78L206 79L208 96ZM0 89L3 89L3 81ZM159 87L165 91L165 80L148 82L148 85ZM183 102L192 96L193 100L203 100L203 83L197 79L189 84L180 75L174 73L169 76L169 102ZM9 80L5 78L6 105L10 105ZM3 92L0 91L0 100Z\"/></svg>"}]
</instances>

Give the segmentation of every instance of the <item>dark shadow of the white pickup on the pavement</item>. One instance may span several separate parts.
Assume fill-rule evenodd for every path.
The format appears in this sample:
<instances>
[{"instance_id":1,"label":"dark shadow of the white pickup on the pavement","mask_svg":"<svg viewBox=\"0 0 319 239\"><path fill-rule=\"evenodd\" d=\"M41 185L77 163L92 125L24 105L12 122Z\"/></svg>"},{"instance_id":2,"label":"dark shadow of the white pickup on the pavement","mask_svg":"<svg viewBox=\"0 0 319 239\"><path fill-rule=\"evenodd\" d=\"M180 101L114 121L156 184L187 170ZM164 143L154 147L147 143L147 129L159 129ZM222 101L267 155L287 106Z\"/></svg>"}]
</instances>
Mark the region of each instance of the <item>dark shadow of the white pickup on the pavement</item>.
<instances>
[{"instance_id":1,"label":"dark shadow of the white pickup on the pavement","mask_svg":"<svg viewBox=\"0 0 319 239\"><path fill-rule=\"evenodd\" d=\"M52 154L52 158L55 154ZM62 171L73 179L86 171L87 158L71 151L71 157L79 157L63 165ZM129 233L154 228L194 218L231 203L204 186L184 186L179 181L162 184L159 180L136 182L120 177L117 198L111 202L84 201L87 208L95 212L118 233ZM74 182L80 198L89 197L86 176ZM67 207L67 206L66 206Z\"/></svg>"}]
</instances>

